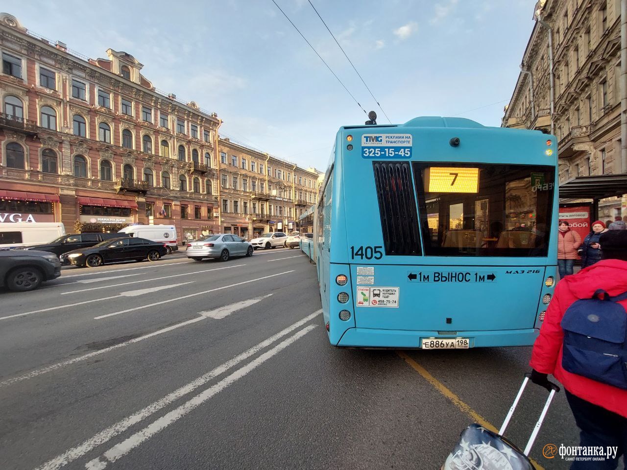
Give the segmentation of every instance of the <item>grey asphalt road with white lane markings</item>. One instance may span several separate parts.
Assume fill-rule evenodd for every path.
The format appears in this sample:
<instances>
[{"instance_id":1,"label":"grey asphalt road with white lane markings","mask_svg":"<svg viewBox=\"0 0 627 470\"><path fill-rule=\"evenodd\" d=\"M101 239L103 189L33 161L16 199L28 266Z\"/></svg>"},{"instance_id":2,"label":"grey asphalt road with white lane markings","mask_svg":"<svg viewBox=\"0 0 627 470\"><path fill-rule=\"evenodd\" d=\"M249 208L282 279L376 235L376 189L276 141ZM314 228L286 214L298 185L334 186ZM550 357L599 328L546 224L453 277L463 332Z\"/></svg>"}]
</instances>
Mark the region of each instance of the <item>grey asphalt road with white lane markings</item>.
<instances>
[{"instance_id":1,"label":"grey asphalt road with white lane markings","mask_svg":"<svg viewBox=\"0 0 627 470\"><path fill-rule=\"evenodd\" d=\"M315 268L251 258L63 269L0 291L0 469L438 469L473 420L499 427L530 348L329 345ZM498 315L498 312L495 312ZM577 444L557 394L532 450ZM547 392L507 436L524 447Z\"/></svg>"}]
</instances>

